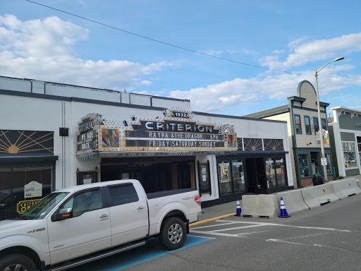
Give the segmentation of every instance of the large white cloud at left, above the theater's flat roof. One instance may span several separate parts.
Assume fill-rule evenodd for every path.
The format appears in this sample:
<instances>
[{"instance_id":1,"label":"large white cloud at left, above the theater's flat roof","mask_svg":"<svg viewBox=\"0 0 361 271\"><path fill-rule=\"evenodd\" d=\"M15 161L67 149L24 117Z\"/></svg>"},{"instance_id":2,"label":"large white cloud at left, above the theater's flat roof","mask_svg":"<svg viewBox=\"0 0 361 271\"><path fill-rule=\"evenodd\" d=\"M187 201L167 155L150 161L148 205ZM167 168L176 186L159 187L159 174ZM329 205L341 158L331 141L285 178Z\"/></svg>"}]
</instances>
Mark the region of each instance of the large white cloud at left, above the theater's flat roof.
<instances>
[{"instance_id":1,"label":"large white cloud at left, above the theater's flat roof","mask_svg":"<svg viewBox=\"0 0 361 271\"><path fill-rule=\"evenodd\" d=\"M0 16L0 74L85 85L95 88L129 90L150 85L142 80L168 62L142 65L126 60L91 60L75 56L73 45L87 40L89 31L54 16L44 20L20 21Z\"/></svg>"}]
</instances>

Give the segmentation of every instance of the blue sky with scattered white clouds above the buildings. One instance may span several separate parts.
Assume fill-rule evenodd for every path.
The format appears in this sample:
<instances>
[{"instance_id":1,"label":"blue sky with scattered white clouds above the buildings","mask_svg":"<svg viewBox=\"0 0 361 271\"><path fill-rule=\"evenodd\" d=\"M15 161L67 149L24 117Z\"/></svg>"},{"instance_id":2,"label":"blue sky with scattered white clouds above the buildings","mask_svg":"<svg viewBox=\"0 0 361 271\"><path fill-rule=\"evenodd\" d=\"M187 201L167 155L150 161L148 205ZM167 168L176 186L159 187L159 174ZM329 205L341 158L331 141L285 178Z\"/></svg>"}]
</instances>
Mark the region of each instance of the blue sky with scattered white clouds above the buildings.
<instances>
[{"instance_id":1,"label":"blue sky with scattered white clouds above the buildings","mask_svg":"<svg viewBox=\"0 0 361 271\"><path fill-rule=\"evenodd\" d=\"M288 104L300 81L314 85L314 70L343 56L319 72L320 100L361 110L360 1L36 2L104 25L1 0L0 76L190 99L194 111L244 116Z\"/></svg>"}]
</instances>

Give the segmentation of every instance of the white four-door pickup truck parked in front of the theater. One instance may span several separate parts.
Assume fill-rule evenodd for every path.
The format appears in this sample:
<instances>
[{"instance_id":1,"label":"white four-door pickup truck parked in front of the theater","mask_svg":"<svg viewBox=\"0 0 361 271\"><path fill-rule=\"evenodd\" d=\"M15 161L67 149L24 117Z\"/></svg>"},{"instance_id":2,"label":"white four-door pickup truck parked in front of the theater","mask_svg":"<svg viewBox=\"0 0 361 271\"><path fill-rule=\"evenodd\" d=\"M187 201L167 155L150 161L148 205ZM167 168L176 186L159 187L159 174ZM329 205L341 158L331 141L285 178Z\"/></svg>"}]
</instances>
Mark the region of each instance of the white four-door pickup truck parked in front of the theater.
<instances>
[{"instance_id":1,"label":"white four-door pickup truck parked in front of the theater","mask_svg":"<svg viewBox=\"0 0 361 271\"><path fill-rule=\"evenodd\" d=\"M189 224L202 219L192 188L146 194L137 180L63 188L0 222L0 271L66 270L152 236L165 248L181 248Z\"/></svg>"}]
</instances>

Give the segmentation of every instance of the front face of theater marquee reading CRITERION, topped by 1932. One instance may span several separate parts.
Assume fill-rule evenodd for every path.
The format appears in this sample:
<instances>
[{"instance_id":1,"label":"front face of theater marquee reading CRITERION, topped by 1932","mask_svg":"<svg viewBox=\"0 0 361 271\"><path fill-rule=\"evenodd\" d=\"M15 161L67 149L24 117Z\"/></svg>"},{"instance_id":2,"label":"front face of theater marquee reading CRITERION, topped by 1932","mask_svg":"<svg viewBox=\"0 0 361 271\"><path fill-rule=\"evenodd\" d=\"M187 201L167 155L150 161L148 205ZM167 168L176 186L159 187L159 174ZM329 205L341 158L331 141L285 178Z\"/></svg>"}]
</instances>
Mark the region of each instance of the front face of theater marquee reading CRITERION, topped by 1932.
<instances>
[{"instance_id":1,"label":"front face of theater marquee reading CRITERION, topped by 1932","mask_svg":"<svg viewBox=\"0 0 361 271\"><path fill-rule=\"evenodd\" d=\"M99 126L99 152L236 151L231 125L201 123L191 112L164 111L163 118L123 121L126 126Z\"/></svg>"}]
</instances>

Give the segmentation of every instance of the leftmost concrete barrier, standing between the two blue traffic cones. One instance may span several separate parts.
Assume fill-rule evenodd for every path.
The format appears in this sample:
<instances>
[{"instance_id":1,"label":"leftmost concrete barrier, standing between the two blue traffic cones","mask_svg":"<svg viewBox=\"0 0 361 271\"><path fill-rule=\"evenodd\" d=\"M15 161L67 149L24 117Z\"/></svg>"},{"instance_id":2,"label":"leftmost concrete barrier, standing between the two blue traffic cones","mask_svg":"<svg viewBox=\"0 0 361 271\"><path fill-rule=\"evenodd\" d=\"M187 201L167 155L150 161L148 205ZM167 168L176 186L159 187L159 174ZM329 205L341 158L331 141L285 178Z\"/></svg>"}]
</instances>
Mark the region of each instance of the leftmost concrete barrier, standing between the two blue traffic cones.
<instances>
[{"instance_id":1,"label":"leftmost concrete barrier, standing between the two blue traffic cones","mask_svg":"<svg viewBox=\"0 0 361 271\"><path fill-rule=\"evenodd\" d=\"M281 215L276 195L243 195L242 215L275 218Z\"/></svg>"}]
</instances>

